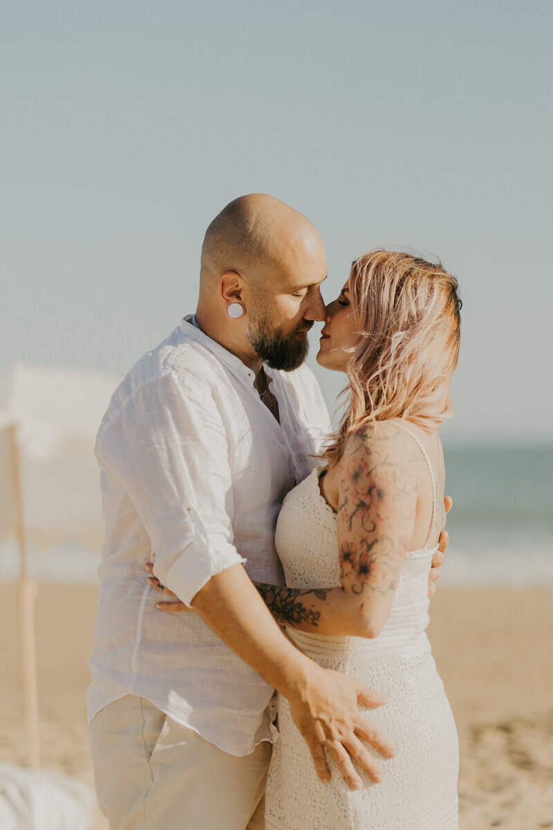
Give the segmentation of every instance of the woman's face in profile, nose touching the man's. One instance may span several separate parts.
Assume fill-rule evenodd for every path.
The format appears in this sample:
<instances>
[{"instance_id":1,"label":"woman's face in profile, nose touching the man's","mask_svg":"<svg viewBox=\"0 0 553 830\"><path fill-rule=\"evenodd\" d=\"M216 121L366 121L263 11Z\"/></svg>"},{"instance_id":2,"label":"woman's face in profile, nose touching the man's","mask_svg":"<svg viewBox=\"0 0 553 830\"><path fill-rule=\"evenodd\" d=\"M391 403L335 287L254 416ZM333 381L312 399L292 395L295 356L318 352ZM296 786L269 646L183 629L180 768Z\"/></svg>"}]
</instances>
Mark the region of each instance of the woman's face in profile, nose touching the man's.
<instances>
[{"instance_id":1,"label":"woman's face in profile, nose touching the man's","mask_svg":"<svg viewBox=\"0 0 553 830\"><path fill-rule=\"evenodd\" d=\"M337 300L327 305L327 319L321 332L317 363L325 369L346 372L352 346L359 339L360 323L350 305L349 280Z\"/></svg>"}]
</instances>

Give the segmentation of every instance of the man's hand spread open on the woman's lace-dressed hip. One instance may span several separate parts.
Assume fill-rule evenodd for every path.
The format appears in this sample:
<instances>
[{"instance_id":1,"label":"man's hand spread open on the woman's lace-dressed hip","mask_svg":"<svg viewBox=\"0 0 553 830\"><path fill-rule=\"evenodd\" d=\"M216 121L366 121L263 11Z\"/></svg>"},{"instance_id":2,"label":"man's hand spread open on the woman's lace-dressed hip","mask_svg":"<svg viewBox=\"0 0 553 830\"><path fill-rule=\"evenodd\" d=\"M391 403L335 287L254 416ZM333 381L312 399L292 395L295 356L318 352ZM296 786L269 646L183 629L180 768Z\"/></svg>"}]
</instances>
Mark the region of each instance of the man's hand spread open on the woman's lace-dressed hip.
<instances>
[{"instance_id":1,"label":"man's hand spread open on the woman's lace-dressed hip","mask_svg":"<svg viewBox=\"0 0 553 830\"><path fill-rule=\"evenodd\" d=\"M383 703L385 701L381 696L367 689L355 677L321 669L315 664L303 693L289 696L293 722L309 747L318 778L323 784L330 781L326 749L332 753L351 789L361 789L363 785L352 763L354 760L371 781L375 784L381 782L381 769L361 739L386 758L393 758L395 751L390 742L361 715L359 704L382 706Z\"/></svg>"}]
</instances>

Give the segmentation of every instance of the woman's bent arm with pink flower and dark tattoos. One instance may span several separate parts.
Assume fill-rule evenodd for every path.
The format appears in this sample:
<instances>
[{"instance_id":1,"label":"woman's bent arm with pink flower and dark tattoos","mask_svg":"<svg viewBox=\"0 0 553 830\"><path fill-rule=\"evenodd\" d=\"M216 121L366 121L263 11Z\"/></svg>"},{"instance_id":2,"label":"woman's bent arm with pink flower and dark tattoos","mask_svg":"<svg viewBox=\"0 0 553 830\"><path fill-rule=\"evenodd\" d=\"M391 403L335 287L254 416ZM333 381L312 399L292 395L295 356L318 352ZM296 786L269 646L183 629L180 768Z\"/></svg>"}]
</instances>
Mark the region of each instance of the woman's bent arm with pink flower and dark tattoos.
<instances>
[{"instance_id":1,"label":"woman's bent arm with pink flower and dark tattoos","mask_svg":"<svg viewBox=\"0 0 553 830\"><path fill-rule=\"evenodd\" d=\"M255 583L278 623L301 631L376 637L390 614L415 525L420 459L390 423L362 429L337 469L337 588Z\"/></svg>"}]
</instances>

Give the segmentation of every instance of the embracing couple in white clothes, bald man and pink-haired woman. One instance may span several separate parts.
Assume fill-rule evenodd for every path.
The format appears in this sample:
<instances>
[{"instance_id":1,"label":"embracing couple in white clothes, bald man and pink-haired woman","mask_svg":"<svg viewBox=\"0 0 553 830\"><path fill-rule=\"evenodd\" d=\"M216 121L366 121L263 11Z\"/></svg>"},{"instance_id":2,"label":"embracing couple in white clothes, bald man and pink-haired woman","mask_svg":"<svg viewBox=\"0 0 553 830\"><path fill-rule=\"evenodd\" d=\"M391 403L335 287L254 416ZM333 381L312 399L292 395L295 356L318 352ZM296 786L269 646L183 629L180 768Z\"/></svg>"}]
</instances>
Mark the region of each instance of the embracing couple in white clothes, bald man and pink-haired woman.
<instances>
[{"instance_id":1,"label":"embracing couple in white clothes, bald man and pink-haired woman","mask_svg":"<svg viewBox=\"0 0 553 830\"><path fill-rule=\"evenodd\" d=\"M305 217L235 199L207 229L196 314L99 427L89 716L110 830L457 828L425 634L457 282L369 251L325 306L326 273ZM330 436L303 365L315 320L318 363L349 383Z\"/></svg>"}]
</instances>

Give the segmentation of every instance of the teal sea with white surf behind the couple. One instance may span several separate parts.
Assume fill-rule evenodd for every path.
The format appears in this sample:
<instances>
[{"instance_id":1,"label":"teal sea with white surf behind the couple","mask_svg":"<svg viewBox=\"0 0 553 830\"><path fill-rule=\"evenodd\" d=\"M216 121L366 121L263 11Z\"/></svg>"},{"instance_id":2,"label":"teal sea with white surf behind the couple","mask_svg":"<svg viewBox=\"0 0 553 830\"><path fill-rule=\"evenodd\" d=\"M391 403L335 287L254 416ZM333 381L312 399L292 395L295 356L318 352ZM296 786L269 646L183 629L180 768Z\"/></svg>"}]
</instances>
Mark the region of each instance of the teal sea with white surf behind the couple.
<instances>
[{"instance_id":1,"label":"teal sea with white surf behind the couple","mask_svg":"<svg viewBox=\"0 0 553 830\"><path fill-rule=\"evenodd\" d=\"M439 585L553 586L553 447L445 447L449 549ZM0 580L17 577L0 544ZM71 543L28 550L44 582L95 582L99 551Z\"/></svg>"}]
</instances>

